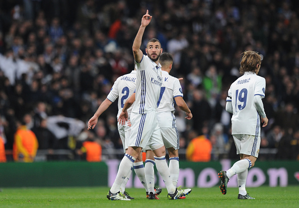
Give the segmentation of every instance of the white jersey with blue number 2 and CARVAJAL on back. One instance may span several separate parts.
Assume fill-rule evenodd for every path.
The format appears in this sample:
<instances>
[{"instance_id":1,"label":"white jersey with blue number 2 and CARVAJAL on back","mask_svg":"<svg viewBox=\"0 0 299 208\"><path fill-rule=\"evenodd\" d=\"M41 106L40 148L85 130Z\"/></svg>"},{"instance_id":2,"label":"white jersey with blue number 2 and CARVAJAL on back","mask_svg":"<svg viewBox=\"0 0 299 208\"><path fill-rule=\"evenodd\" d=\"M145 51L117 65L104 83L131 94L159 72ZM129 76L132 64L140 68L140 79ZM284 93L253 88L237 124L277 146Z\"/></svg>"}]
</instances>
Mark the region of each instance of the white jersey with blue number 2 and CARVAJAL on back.
<instances>
[{"instance_id":1,"label":"white jersey with blue number 2 and CARVAJAL on back","mask_svg":"<svg viewBox=\"0 0 299 208\"><path fill-rule=\"evenodd\" d=\"M111 88L110 93L107 96L107 99L111 102L114 102L118 98L118 113L122 111L122 108L126 100L133 94L136 88L136 71L132 71L130 74L123 75L114 82L114 85ZM132 105L133 106L133 105ZM128 108L128 114L130 117L132 106Z\"/></svg>"}]
</instances>

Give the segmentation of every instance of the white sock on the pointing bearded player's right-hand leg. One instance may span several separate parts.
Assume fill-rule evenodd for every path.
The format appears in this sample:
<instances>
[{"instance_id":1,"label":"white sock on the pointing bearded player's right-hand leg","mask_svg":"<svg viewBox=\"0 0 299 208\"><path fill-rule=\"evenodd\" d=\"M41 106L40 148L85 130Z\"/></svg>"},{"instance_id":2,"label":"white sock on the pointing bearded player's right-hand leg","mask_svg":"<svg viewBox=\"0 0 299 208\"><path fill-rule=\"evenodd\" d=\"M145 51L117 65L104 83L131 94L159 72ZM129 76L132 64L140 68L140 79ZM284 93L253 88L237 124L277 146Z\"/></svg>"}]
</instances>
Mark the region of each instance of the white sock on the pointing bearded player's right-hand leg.
<instances>
[{"instance_id":1,"label":"white sock on the pointing bearded player's right-hand leg","mask_svg":"<svg viewBox=\"0 0 299 208\"><path fill-rule=\"evenodd\" d=\"M176 187L172 184L172 181L170 179L170 172L165 160L165 156L155 157L155 161L157 170L159 171L165 183L168 193L173 194L176 191Z\"/></svg>"}]
</instances>

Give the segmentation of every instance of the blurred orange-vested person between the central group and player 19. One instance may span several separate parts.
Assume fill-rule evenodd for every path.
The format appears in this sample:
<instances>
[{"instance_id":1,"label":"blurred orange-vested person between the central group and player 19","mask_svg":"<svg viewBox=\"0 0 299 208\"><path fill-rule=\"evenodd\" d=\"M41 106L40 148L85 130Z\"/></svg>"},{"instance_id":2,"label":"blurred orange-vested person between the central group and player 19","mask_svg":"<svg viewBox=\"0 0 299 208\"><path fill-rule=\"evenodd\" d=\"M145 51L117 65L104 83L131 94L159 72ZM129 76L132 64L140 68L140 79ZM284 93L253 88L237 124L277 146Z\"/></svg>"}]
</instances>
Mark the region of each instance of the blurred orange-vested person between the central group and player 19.
<instances>
[{"instance_id":1,"label":"blurred orange-vested person between the central group and player 19","mask_svg":"<svg viewBox=\"0 0 299 208\"><path fill-rule=\"evenodd\" d=\"M195 132L195 134L197 134ZM198 135L191 140L186 149L186 158L192 162L209 162L212 144L205 135Z\"/></svg>"}]
</instances>

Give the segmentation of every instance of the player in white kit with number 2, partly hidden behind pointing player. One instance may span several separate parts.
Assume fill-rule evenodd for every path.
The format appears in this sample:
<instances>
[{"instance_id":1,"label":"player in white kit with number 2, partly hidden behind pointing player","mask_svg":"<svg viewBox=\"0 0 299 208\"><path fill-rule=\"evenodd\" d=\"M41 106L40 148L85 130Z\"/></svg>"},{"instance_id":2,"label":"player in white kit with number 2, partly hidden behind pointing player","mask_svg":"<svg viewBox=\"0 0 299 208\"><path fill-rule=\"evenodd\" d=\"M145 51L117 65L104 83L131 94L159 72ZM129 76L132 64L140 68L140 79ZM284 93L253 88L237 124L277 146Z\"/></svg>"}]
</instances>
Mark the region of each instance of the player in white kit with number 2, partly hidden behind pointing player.
<instances>
[{"instance_id":1,"label":"player in white kit with number 2, partly hidden behind pointing player","mask_svg":"<svg viewBox=\"0 0 299 208\"><path fill-rule=\"evenodd\" d=\"M114 82L114 85L111 88L110 93L107 98L102 102L99 106L98 110L94 114L94 116L88 121L88 129L94 128L98 122L99 116L118 98L118 113L122 111L125 101L132 95L136 88L136 71L132 71L130 74L123 75ZM130 115L132 108L127 110L128 115ZM120 125L117 123L118 132L122 141L124 153L127 152L128 149L128 140L130 137L130 127L128 122L125 122L124 125ZM121 193L124 194L127 198L133 199L133 197L129 196L129 194L125 191L125 186L129 180L129 177L132 173L132 168L134 169L136 175L144 186L145 190L148 191L145 180L144 166L142 162L142 155L136 158L133 166L131 167L128 175L125 180L121 184L120 190Z\"/></svg>"}]
</instances>

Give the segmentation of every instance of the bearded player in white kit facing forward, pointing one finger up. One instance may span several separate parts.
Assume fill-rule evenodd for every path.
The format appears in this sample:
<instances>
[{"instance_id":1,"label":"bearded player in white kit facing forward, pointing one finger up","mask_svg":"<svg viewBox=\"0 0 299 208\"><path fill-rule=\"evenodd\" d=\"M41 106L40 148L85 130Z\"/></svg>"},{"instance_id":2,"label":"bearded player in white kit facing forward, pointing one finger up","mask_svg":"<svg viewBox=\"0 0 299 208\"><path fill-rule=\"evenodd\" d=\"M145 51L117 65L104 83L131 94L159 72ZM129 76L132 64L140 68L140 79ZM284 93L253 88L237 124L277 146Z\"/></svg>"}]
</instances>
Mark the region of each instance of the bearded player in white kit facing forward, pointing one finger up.
<instances>
[{"instance_id":1,"label":"bearded player in white kit facing forward, pointing one finger up","mask_svg":"<svg viewBox=\"0 0 299 208\"><path fill-rule=\"evenodd\" d=\"M107 194L108 199L113 200L128 200L120 194L120 185L124 177L128 175L129 169L135 158L145 146L150 147L157 158L156 167L162 176L169 199L177 199L180 196L187 195L191 189L177 189L170 179L169 169L165 160L165 146L157 121L157 102L160 96L162 85L161 65L159 64L159 56L162 52L161 44L158 39L151 39L146 45L143 55L140 50L142 36L145 27L150 24L152 16L148 14L143 15L141 19L141 26L137 32L133 42L133 55L136 62L136 101L133 106L130 121L132 123L131 136L129 140L128 152L120 162L116 179ZM126 109L123 108L119 119L128 118ZM154 195L153 188L148 189L150 195Z\"/></svg>"}]
</instances>

